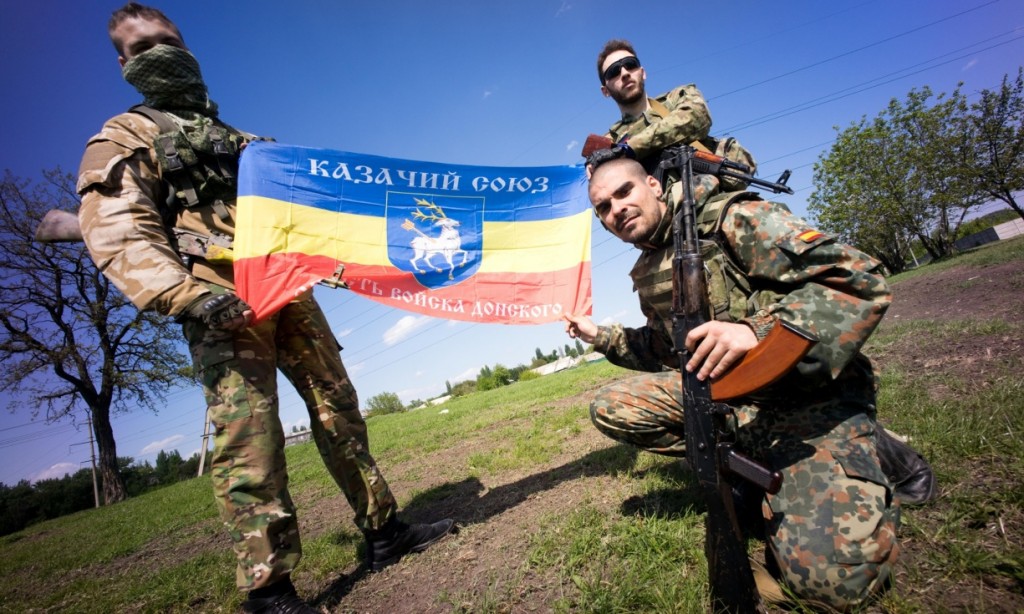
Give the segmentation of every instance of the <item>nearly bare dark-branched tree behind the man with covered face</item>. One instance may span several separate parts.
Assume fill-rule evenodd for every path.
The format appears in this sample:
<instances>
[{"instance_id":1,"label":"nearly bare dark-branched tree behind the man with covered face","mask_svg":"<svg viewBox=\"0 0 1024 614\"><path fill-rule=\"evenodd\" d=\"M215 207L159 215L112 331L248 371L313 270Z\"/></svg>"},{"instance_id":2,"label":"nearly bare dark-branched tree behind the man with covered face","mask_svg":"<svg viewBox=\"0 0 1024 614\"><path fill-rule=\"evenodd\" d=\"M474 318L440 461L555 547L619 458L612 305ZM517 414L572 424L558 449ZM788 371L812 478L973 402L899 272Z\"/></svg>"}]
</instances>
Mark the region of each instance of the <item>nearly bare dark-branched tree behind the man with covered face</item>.
<instances>
[{"instance_id":1,"label":"nearly bare dark-branched tree behind the man with covered face","mask_svg":"<svg viewBox=\"0 0 1024 614\"><path fill-rule=\"evenodd\" d=\"M8 171L0 183L0 391L11 410L91 424L111 503L127 494L111 415L156 411L191 369L175 322L138 311L81 244L34 240L46 211L78 207L74 177L59 169L43 177L32 185Z\"/></svg>"}]
</instances>

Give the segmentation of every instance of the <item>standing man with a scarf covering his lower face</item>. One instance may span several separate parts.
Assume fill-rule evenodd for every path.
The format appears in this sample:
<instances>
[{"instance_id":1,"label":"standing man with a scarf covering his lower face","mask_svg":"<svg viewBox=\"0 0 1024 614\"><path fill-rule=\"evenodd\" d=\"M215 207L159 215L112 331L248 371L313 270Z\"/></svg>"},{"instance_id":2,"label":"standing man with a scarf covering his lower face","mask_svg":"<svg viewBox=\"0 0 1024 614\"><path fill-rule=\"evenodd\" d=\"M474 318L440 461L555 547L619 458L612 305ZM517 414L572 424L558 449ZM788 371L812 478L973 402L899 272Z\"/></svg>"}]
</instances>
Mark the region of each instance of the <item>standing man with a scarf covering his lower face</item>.
<instances>
[{"instance_id":1,"label":"standing man with a scarf covering his lower face","mask_svg":"<svg viewBox=\"0 0 1024 614\"><path fill-rule=\"evenodd\" d=\"M121 114L86 145L78 181L85 243L139 309L181 322L216 429L214 494L238 558L238 584L249 591L245 609L314 612L290 576L301 545L276 369L306 403L321 456L366 534L370 569L425 550L454 523L398 521L341 348L311 293L253 324L252 309L234 294L229 261L179 255L183 231L194 243L233 236L234 173L251 135L220 121L199 63L162 12L129 3L114 12L109 33L125 79L158 113ZM184 180L175 160L188 169Z\"/></svg>"}]
</instances>

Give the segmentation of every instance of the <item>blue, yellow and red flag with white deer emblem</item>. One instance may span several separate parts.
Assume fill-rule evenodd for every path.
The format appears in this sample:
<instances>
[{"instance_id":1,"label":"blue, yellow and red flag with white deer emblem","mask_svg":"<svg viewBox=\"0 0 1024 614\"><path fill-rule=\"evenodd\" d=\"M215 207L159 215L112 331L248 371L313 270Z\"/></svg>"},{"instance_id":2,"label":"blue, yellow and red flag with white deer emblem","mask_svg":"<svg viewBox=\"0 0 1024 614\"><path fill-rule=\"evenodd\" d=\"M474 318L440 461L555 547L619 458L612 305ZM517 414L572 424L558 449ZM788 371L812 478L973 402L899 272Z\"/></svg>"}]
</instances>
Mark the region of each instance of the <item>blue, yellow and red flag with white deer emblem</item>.
<instances>
[{"instance_id":1,"label":"blue, yellow and red flag with white deer emblem","mask_svg":"<svg viewBox=\"0 0 1024 614\"><path fill-rule=\"evenodd\" d=\"M234 282L257 320L332 278L375 301L507 324L590 313L583 167L496 168L250 143Z\"/></svg>"}]
</instances>

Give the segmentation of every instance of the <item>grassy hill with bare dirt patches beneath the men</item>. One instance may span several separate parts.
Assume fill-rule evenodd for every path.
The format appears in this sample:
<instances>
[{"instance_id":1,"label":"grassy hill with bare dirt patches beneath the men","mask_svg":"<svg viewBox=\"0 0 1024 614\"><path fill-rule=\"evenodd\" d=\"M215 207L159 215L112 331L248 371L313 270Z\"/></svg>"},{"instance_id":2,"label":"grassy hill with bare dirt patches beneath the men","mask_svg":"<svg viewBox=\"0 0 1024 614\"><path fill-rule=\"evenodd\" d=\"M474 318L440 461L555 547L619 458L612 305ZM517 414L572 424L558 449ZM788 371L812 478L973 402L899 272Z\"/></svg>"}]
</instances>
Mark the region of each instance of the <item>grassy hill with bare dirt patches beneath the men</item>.
<instances>
[{"instance_id":1,"label":"grassy hill with bare dirt patches beneath the men","mask_svg":"<svg viewBox=\"0 0 1024 614\"><path fill-rule=\"evenodd\" d=\"M941 497L903 511L874 610L1024 610L1024 239L894 278L867 354L880 419L930 458ZM625 282L625 280L624 280ZM304 559L326 612L698 612L702 506L678 461L600 436L607 362L369 421L402 516L461 531L377 574L311 443L288 449ZM752 545L753 547L753 545ZM233 555L207 478L0 538L3 612L233 612Z\"/></svg>"}]
</instances>

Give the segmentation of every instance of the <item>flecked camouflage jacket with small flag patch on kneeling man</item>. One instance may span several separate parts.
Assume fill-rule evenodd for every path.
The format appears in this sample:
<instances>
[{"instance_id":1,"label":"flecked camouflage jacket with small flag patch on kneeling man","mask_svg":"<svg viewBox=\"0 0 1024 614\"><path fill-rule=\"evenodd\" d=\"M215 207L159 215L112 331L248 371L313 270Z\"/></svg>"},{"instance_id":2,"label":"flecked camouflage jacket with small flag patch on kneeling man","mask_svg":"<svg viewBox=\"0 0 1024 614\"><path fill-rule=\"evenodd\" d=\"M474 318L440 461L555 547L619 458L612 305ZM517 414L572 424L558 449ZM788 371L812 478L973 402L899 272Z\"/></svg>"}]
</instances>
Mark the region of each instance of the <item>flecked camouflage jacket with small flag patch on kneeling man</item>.
<instances>
[{"instance_id":1,"label":"flecked camouflage jacket with small flag patch on kneeling man","mask_svg":"<svg viewBox=\"0 0 1024 614\"><path fill-rule=\"evenodd\" d=\"M701 245L715 317L746 323L758 339L777 319L792 322L819 340L798 367L803 384L839 378L892 301L881 264L810 228L780 203L752 192L697 191L711 194L697 215L702 238L715 229L716 240ZM646 325L600 326L594 342L609 361L649 371L678 367L671 337L671 211L655 236L658 247L642 251L630 272Z\"/></svg>"}]
</instances>

